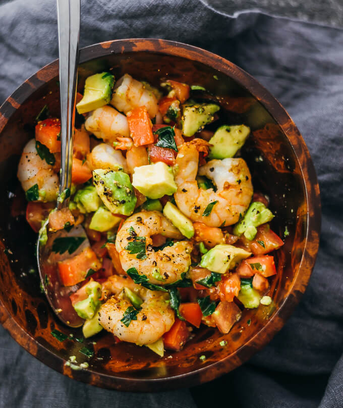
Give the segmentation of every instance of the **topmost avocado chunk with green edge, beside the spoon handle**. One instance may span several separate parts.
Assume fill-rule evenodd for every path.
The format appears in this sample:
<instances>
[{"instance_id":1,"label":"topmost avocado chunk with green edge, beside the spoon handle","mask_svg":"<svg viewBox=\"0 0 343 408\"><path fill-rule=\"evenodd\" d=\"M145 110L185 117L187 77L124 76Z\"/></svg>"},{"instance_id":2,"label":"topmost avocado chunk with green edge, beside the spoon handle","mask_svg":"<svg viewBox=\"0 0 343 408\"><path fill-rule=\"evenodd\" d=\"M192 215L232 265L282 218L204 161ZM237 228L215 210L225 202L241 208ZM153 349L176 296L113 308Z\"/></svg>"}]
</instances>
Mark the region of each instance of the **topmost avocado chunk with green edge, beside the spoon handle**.
<instances>
[{"instance_id":1,"label":"topmost avocado chunk with green edge, beside the spoon handle","mask_svg":"<svg viewBox=\"0 0 343 408\"><path fill-rule=\"evenodd\" d=\"M76 105L79 114L94 111L107 105L111 99L111 91L115 77L109 72L91 75L86 79L83 98Z\"/></svg>"}]
</instances>

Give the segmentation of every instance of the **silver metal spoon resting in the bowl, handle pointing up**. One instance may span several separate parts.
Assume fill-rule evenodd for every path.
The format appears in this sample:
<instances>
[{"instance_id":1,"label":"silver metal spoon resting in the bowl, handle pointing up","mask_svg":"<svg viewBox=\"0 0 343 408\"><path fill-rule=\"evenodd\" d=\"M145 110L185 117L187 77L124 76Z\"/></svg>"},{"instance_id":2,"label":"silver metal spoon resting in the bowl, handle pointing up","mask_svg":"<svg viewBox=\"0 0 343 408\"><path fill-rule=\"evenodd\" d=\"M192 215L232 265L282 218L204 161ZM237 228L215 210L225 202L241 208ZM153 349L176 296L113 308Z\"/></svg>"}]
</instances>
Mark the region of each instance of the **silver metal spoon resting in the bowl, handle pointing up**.
<instances>
[{"instance_id":1,"label":"silver metal spoon resting in the bowl, handle pointing up","mask_svg":"<svg viewBox=\"0 0 343 408\"><path fill-rule=\"evenodd\" d=\"M77 85L77 66L79 59L80 0L57 0L59 51L60 51L60 103L61 103L61 171L60 190L56 210L68 207L72 185L73 134L75 121L75 98ZM45 222L47 227L48 221ZM89 245L81 226L70 232L61 230L51 232L47 229L47 242L41 244L39 234L37 243L38 270L42 288L55 314L68 326L79 327L83 320L76 314L69 295L75 287L62 286L58 273L58 261L76 255ZM83 243L72 253L59 254L51 250L53 241L59 237L84 237Z\"/></svg>"}]
</instances>

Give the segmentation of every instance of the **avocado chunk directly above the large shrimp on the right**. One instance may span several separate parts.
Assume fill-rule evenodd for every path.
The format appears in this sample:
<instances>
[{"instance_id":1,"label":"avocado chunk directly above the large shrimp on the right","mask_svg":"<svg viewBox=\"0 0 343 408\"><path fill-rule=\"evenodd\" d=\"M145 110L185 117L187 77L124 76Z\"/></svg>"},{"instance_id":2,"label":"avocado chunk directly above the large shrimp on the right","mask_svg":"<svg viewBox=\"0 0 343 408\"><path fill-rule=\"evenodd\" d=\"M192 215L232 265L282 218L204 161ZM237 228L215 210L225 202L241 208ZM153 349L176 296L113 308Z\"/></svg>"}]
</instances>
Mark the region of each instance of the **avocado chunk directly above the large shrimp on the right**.
<instances>
[{"instance_id":1,"label":"avocado chunk directly above the large shrimp on the right","mask_svg":"<svg viewBox=\"0 0 343 408\"><path fill-rule=\"evenodd\" d=\"M209 159L226 159L234 157L250 133L250 128L245 125L220 126L210 138Z\"/></svg>"}]
</instances>

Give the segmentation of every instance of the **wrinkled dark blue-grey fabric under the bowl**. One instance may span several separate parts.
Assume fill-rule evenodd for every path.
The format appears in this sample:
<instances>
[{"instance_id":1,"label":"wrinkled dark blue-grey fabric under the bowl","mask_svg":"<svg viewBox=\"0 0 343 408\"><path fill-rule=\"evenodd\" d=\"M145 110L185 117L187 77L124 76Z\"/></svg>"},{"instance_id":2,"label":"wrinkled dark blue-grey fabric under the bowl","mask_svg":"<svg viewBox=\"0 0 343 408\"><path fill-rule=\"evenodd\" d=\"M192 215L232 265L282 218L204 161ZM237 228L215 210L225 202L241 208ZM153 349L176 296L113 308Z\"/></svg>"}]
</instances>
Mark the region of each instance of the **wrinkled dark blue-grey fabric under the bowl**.
<instances>
[{"instance_id":1,"label":"wrinkled dark blue-grey fabric under the bowl","mask_svg":"<svg viewBox=\"0 0 343 408\"><path fill-rule=\"evenodd\" d=\"M0 6L0 101L58 56L55 2ZM201 46L255 76L288 110L314 161L322 234L293 316L249 363L193 389L120 393L77 383L35 360L0 329L0 407L343 406L343 30L261 13L217 13L198 0L82 2L81 46L154 37Z\"/></svg>"}]
</instances>

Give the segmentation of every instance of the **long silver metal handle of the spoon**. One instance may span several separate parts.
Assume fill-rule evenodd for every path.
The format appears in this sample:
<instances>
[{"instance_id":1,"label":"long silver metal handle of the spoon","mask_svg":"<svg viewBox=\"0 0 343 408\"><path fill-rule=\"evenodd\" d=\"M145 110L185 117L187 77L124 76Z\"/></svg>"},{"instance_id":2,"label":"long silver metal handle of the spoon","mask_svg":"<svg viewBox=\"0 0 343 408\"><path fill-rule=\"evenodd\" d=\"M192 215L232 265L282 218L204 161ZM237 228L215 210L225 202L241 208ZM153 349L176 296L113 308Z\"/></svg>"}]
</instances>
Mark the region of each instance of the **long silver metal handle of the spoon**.
<instances>
[{"instance_id":1,"label":"long silver metal handle of the spoon","mask_svg":"<svg viewBox=\"0 0 343 408\"><path fill-rule=\"evenodd\" d=\"M57 0L60 51L61 174L58 209L67 205L72 185L73 135L79 60L80 0ZM67 190L68 191L68 190Z\"/></svg>"}]
</instances>

